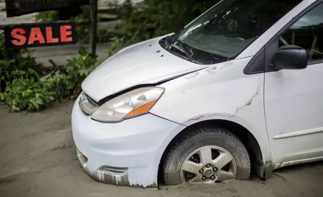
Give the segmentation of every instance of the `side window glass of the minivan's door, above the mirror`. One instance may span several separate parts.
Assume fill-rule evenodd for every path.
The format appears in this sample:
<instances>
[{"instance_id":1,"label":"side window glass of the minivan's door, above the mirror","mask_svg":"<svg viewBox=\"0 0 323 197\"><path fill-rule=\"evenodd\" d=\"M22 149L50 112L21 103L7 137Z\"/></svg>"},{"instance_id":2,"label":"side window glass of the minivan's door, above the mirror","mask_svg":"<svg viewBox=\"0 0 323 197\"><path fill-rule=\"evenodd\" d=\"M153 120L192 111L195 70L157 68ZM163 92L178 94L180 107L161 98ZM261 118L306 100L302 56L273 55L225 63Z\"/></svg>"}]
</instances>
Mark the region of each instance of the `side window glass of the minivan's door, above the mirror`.
<instances>
[{"instance_id":1,"label":"side window glass of the minivan's door, above the mirror","mask_svg":"<svg viewBox=\"0 0 323 197\"><path fill-rule=\"evenodd\" d=\"M323 4L301 17L279 38L279 47L288 44L304 48L309 62L323 60Z\"/></svg>"}]
</instances>

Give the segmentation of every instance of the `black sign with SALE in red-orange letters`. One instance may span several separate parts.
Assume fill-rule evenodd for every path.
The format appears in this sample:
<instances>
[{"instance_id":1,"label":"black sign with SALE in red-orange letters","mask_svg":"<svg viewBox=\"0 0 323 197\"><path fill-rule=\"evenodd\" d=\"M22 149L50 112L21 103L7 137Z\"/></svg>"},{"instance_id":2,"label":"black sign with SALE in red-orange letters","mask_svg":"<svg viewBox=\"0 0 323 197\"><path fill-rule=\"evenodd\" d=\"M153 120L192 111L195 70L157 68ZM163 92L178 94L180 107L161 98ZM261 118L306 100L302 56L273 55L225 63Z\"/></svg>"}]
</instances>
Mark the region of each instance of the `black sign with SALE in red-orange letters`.
<instances>
[{"instance_id":1,"label":"black sign with SALE in red-orange letters","mask_svg":"<svg viewBox=\"0 0 323 197\"><path fill-rule=\"evenodd\" d=\"M76 44L74 22L30 23L5 26L8 48Z\"/></svg>"}]
</instances>

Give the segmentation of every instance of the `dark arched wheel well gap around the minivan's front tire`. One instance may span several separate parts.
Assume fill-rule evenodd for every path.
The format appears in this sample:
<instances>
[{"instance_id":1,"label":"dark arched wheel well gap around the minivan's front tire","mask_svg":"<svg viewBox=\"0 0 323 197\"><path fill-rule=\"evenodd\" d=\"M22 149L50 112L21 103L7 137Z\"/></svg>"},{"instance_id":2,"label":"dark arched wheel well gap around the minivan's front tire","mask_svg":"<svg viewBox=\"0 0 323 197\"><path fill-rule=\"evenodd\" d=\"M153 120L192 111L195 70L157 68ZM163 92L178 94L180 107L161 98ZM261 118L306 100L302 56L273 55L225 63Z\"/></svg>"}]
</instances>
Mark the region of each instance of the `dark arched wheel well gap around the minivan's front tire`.
<instances>
[{"instance_id":1,"label":"dark arched wheel well gap around the minivan's front tire","mask_svg":"<svg viewBox=\"0 0 323 197\"><path fill-rule=\"evenodd\" d=\"M231 122L227 120L207 120L207 121L202 121L188 126L183 131L181 131L177 136L175 136L175 138L170 142L170 144L165 149L163 156L160 159L159 170L158 170L158 180L162 180L161 171L163 169L165 155L168 153L169 149L172 147L173 143L177 141L178 138L180 138L186 132L191 131L194 128L212 127L215 125L228 129L230 132L235 134L241 140L243 145L246 147L250 157L251 171L255 172L255 166L261 165L262 163L262 153L261 153L261 149L258 144L258 141L252 135L252 133L248 131L245 127L235 122ZM256 174L258 173L256 172Z\"/></svg>"}]
</instances>

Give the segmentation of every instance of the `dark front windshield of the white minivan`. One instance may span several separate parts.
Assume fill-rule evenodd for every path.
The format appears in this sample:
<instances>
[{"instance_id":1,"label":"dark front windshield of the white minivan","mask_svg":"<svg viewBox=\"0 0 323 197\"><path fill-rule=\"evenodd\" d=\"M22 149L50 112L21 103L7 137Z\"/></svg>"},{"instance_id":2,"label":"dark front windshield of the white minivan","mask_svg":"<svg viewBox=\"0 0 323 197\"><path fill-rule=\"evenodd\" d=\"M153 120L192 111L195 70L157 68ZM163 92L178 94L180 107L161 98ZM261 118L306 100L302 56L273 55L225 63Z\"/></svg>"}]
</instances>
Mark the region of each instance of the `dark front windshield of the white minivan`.
<instances>
[{"instance_id":1,"label":"dark front windshield of the white minivan","mask_svg":"<svg viewBox=\"0 0 323 197\"><path fill-rule=\"evenodd\" d=\"M212 64L237 56L300 0L224 0L177 33L192 61ZM176 44L174 38L170 43ZM188 56L188 55L184 55ZM203 57L202 57L203 56Z\"/></svg>"}]
</instances>

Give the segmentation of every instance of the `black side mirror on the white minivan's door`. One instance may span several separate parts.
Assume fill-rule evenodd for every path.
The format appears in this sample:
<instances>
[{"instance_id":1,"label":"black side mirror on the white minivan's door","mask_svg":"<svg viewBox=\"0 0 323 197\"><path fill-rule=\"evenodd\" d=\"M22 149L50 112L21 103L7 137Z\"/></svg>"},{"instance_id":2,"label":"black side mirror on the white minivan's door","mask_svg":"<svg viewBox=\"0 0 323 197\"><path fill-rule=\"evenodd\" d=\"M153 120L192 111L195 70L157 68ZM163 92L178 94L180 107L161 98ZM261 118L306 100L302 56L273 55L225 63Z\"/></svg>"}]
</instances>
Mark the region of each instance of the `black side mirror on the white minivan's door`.
<instances>
[{"instance_id":1,"label":"black side mirror on the white minivan's door","mask_svg":"<svg viewBox=\"0 0 323 197\"><path fill-rule=\"evenodd\" d=\"M283 46L274 53L272 64L278 70L304 69L307 67L307 54L302 47Z\"/></svg>"}]
</instances>

